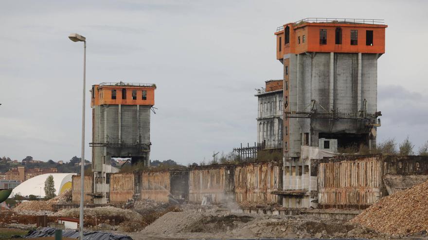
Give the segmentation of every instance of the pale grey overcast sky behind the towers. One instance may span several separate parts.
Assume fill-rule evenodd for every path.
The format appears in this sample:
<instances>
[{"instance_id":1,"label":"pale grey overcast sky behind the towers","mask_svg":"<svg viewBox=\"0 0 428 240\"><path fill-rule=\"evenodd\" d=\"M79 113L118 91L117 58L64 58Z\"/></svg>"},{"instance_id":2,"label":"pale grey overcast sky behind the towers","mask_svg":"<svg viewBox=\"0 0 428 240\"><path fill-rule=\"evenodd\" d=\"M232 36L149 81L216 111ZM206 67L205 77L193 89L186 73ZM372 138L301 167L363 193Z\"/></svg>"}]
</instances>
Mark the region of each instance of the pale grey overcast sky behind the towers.
<instances>
[{"instance_id":1,"label":"pale grey overcast sky behind the towers","mask_svg":"<svg viewBox=\"0 0 428 240\"><path fill-rule=\"evenodd\" d=\"M427 1L0 1L0 155L80 156L83 44L89 88L156 83L151 160L211 159L256 141L254 88L282 79L278 26L305 17L385 19L378 139L428 140Z\"/></svg>"}]
</instances>

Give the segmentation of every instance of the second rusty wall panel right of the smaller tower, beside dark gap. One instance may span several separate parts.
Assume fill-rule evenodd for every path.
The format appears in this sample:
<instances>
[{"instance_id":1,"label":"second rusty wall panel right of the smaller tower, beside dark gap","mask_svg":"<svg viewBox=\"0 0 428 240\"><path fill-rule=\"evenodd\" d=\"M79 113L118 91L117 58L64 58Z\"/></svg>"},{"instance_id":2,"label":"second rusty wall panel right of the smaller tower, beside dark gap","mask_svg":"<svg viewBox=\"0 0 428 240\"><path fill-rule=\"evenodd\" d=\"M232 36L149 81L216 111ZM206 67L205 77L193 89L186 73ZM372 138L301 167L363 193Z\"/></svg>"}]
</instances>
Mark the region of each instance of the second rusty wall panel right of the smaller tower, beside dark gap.
<instances>
[{"instance_id":1,"label":"second rusty wall panel right of the smaller tower, beside dark gap","mask_svg":"<svg viewBox=\"0 0 428 240\"><path fill-rule=\"evenodd\" d=\"M169 172L143 172L142 173L142 199L152 199L160 202L168 202L170 194Z\"/></svg>"}]
</instances>

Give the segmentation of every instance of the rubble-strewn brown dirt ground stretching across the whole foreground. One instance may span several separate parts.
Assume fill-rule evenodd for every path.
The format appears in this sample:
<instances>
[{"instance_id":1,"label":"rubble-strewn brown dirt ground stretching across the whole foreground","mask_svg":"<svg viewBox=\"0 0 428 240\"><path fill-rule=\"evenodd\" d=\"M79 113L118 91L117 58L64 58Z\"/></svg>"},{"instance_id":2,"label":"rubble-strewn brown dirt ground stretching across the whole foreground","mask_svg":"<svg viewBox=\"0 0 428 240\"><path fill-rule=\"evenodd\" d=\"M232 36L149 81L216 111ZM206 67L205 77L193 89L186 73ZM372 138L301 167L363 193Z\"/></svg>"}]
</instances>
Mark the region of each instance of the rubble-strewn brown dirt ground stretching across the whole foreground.
<instances>
[{"instance_id":1,"label":"rubble-strewn brown dirt ground stretching across the whole foreground","mask_svg":"<svg viewBox=\"0 0 428 240\"><path fill-rule=\"evenodd\" d=\"M30 206L30 205L28 205ZM42 212L45 210L39 211ZM58 216L77 218L78 208L50 212L49 222ZM35 227L31 210L1 210L0 226ZM321 219L308 215L260 215L231 213L225 208L185 204L173 206L154 201L136 201L128 209L114 207L85 208L85 228L125 234L134 240L184 239L424 239L427 232L410 236L391 236L359 223ZM28 228L28 229L29 229Z\"/></svg>"}]
</instances>

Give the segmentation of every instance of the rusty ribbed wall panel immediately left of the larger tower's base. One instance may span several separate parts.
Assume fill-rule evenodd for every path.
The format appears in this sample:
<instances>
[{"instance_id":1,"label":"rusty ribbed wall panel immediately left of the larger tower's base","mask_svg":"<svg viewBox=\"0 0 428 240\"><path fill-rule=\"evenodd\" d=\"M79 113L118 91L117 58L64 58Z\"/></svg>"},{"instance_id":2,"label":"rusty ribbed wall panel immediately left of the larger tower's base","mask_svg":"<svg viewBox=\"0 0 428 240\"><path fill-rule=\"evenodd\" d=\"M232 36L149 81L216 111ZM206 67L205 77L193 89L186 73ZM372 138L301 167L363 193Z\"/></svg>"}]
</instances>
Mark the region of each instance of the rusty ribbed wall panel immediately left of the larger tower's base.
<instances>
[{"instance_id":1,"label":"rusty ribbed wall panel immediately left of the larger tower's base","mask_svg":"<svg viewBox=\"0 0 428 240\"><path fill-rule=\"evenodd\" d=\"M234 174L236 202L278 203L278 195L270 192L282 189L281 164L263 162L236 166Z\"/></svg>"}]
</instances>

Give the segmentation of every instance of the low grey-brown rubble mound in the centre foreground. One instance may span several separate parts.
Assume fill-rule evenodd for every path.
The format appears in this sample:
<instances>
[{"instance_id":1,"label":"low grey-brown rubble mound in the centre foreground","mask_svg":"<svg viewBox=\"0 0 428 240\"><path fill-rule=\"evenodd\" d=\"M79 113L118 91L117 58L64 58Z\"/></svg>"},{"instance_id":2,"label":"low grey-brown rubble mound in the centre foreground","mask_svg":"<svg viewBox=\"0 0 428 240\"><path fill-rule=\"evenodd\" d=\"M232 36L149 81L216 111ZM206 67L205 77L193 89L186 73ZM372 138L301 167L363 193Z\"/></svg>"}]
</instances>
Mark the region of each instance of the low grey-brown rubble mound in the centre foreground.
<instances>
[{"instance_id":1,"label":"low grey-brown rubble mound in the centre foreground","mask_svg":"<svg viewBox=\"0 0 428 240\"><path fill-rule=\"evenodd\" d=\"M159 238L389 238L387 234L336 219L313 216L169 212L142 232Z\"/></svg>"}]
</instances>

